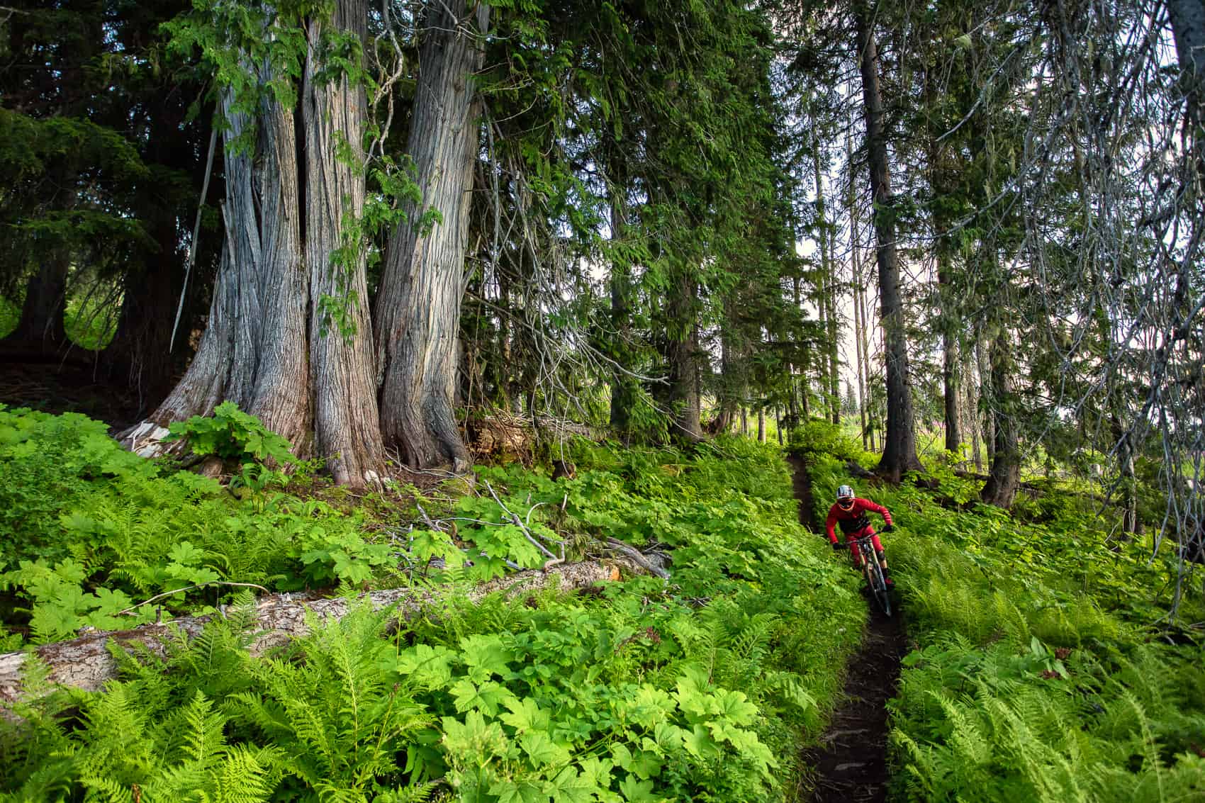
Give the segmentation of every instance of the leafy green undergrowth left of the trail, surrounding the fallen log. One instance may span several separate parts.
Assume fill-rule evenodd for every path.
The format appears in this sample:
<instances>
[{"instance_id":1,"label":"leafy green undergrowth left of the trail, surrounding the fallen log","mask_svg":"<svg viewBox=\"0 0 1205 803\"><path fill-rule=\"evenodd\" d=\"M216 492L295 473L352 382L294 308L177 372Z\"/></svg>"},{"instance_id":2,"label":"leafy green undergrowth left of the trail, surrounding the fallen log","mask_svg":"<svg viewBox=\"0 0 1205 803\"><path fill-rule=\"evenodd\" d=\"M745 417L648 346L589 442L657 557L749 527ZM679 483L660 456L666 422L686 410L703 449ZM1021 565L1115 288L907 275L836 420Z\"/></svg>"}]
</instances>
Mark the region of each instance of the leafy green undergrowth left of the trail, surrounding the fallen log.
<instances>
[{"instance_id":1,"label":"leafy green undergrowth left of the trail, surrounding the fallen log","mask_svg":"<svg viewBox=\"0 0 1205 803\"><path fill-rule=\"evenodd\" d=\"M386 526L381 504L340 512L271 487L236 498L120 452L86 420L2 415L0 471L24 477L0 481L8 615L28 616L35 639L128 626L119 604L205 573L280 588L341 579L347 592L413 582L445 598L410 620L359 610L268 657L251 656L236 612L164 660L124 661L102 694L23 703L0 725L2 799L783 799L800 733L831 705L860 634L854 578L795 523L772 447L578 445L576 479L557 481L482 469L493 493L423 503L457 520L452 535L404 526L410 510ZM457 602L506 561L546 557L494 493L570 558L605 537L659 544L671 579ZM205 593L174 599L196 608Z\"/></svg>"}]
</instances>

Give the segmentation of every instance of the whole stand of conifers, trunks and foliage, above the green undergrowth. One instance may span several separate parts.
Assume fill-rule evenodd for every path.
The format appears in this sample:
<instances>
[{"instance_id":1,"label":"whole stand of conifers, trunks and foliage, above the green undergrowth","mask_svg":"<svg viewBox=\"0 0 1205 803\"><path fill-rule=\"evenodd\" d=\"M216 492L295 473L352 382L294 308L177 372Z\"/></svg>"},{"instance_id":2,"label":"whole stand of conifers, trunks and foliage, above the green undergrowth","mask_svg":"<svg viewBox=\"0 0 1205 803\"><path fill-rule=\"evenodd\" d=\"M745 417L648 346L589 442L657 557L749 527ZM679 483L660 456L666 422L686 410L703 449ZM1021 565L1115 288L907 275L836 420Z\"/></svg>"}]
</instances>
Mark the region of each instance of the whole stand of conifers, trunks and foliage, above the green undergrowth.
<instances>
[{"instance_id":1,"label":"whole stand of conifers, trunks and foliage, above the green undergrowth","mask_svg":"<svg viewBox=\"0 0 1205 803\"><path fill-rule=\"evenodd\" d=\"M1070 465L1158 549L1203 527L1203 43L1198 0L5 6L5 353L140 453L229 402L352 487L499 415L846 414L889 480Z\"/></svg>"}]
</instances>

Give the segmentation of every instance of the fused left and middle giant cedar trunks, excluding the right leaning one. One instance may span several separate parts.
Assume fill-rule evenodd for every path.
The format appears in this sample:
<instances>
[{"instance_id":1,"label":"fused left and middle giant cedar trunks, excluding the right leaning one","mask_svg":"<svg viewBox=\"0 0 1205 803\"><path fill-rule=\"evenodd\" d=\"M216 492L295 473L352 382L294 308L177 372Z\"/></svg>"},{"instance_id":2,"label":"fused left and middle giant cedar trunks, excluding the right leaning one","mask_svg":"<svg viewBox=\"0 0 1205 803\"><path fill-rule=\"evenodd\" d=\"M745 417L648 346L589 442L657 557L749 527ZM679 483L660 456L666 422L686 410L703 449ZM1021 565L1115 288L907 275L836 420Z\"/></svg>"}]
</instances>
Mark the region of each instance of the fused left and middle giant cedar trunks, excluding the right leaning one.
<instances>
[{"instance_id":1,"label":"fused left and middle giant cedar trunks, excluding the right leaning one","mask_svg":"<svg viewBox=\"0 0 1205 803\"><path fill-rule=\"evenodd\" d=\"M363 1L340 0L331 24L363 37L366 13ZM323 69L324 27L315 20L308 31L304 188L293 111L265 93L252 121L235 111L233 90L223 92L225 241L208 326L181 382L154 414L123 433L140 453L169 451L159 442L167 423L208 415L229 400L292 441L299 456L316 446L340 483L370 482L383 463L364 307L365 245L341 236L346 217L359 215L364 204L365 104L346 75L315 80ZM260 65L261 86L278 78ZM245 131L253 123L248 148ZM333 254L341 247L336 264Z\"/></svg>"}]
</instances>

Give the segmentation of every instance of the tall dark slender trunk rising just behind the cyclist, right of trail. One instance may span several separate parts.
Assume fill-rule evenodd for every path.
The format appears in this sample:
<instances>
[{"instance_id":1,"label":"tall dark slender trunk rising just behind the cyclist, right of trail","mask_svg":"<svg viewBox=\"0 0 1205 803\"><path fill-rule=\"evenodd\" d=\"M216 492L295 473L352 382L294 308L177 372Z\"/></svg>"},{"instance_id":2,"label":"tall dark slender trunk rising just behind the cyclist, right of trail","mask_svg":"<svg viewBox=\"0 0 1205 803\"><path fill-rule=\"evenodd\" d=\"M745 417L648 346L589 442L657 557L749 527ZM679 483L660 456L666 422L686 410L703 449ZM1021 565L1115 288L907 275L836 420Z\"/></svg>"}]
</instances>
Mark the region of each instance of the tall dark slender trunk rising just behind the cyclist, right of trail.
<instances>
[{"instance_id":1,"label":"tall dark slender trunk rising just behind the cyclist, right of trail","mask_svg":"<svg viewBox=\"0 0 1205 803\"><path fill-rule=\"evenodd\" d=\"M870 11L856 4L862 95L866 112L866 151L870 187L875 199L875 238L878 245L878 293L882 301L883 338L887 358L887 434L878 474L899 482L905 471L923 470L916 453L912 391L907 375L907 338L904 332L904 299L900 294L899 256L895 252L890 172L887 162L887 131L878 83L878 52L870 29Z\"/></svg>"}]
</instances>

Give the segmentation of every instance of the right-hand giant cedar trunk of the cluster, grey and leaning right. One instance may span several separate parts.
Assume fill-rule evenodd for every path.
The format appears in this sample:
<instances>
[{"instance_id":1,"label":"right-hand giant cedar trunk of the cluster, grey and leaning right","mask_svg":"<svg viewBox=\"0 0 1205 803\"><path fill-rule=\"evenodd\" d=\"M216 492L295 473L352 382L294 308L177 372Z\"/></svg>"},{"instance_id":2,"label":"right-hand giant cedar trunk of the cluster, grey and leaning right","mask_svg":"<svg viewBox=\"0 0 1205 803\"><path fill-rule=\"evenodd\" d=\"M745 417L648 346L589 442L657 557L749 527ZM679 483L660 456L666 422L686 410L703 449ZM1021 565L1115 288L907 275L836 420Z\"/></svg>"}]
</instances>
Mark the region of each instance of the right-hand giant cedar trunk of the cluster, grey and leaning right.
<instances>
[{"instance_id":1,"label":"right-hand giant cedar trunk of the cluster, grey and leaning right","mask_svg":"<svg viewBox=\"0 0 1205 803\"><path fill-rule=\"evenodd\" d=\"M463 17L453 13L462 10ZM469 205L480 143L474 76L482 63L486 2L431 4L423 20L410 154L425 207L442 216L421 236L421 210L398 225L374 317L381 432L415 468L469 470L454 392Z\"/></svg>"}]
</instances>

